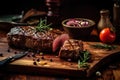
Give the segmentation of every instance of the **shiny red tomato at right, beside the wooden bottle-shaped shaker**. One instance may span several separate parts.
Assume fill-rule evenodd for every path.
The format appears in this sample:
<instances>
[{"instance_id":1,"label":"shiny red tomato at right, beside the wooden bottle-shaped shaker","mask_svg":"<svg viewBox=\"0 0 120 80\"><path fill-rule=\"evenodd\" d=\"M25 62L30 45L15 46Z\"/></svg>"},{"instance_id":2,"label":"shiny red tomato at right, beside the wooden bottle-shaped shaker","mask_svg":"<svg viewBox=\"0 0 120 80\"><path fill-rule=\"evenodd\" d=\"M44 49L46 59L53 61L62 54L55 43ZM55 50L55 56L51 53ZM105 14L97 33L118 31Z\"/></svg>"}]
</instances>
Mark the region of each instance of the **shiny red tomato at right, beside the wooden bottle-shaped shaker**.
<instances>
[{"instance_id":1,"label":"shiny red tomato at right, beside the wooden bottle-shaped shaker","mask_svg":"<svg viewBox=\"0 0 120 80\"><path fill-rule=\"evenodd\" d=\"M110 28L104 28L100 32L99 38L104 43L113 43L116 39L116 34Z\"/></svg>"}]
</instances>

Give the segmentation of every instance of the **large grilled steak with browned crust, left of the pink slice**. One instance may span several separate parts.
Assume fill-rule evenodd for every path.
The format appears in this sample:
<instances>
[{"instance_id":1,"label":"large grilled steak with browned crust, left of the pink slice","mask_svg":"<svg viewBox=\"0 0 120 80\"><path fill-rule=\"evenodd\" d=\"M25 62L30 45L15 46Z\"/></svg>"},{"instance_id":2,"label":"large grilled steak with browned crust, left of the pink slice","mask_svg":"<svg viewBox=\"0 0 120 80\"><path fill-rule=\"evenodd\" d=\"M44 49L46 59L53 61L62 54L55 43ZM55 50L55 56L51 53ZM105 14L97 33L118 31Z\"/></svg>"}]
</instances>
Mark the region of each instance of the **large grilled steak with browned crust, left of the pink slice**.
<instances>
[{"instance_id":1,"label":"large grilled steak with browned crust, left of the pink slice","mask_svg":"<svg viewBox=\"0 0 120 80\"><path fill-rule=\"evenodd\" d=\"M51 51L53 40L60 34L58 29L37 32L34 26L17 26L7 34L7 40L10 47Z\"/></svg>"}]
</instances>

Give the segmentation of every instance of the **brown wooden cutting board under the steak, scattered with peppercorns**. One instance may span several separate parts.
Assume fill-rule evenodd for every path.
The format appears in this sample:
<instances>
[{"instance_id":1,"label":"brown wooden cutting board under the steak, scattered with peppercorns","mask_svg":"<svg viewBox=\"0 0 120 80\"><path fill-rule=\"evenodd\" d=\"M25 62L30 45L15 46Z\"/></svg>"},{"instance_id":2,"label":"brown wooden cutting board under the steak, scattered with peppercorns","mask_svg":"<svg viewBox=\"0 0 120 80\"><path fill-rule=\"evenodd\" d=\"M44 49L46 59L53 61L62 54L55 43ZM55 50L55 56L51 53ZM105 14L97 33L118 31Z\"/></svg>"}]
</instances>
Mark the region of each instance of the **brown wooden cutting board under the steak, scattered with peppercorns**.
<instances>
[{"instance_id":1,"label":"brown wooden cutting board under the steak, scattered with peppercorns","mask_svg":"<svg viewBox=\"0 0 120 80\"><path fill-rule=\"evenodd\" d=\"M117 47L113 50L105 50L90 46L94 44L101 43L84 42L84 49L89 50L92 55L92 60L88 63L90 65L89 68L78 68L77 62L62 60L57 56L57 53L37 54L33 56L33 52L29 52L27 56L9 63L5 67L2 67L1 70L54 76L89 77L106 64L115 61L115 58L120 57L119 45L115 45ZM21 50L9 48L6 38L0 39L0 54L3 54L3 56L0 56L0 60L19 53L20 51ZM34 64L35 60L40 60L37 62L37 65Z\"/></svg>"}]
</instances>

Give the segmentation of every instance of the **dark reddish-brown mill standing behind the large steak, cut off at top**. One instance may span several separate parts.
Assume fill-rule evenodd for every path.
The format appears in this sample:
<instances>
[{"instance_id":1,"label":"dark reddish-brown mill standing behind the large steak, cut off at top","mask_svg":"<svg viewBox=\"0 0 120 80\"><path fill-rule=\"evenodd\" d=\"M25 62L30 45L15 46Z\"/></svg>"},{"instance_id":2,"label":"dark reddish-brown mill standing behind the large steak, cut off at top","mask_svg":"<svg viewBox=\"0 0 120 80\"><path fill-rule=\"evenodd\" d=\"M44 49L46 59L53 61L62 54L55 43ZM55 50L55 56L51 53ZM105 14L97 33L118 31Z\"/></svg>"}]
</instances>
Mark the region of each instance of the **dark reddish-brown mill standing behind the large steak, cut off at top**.
<instances>
[{"instance_id":1,"label":"dark reddish-brown mill standing behind the large steak, cut off at top","mask_svg":"<svg viewBox=\"0 0 120 80\"><path fill-rule=\"evenodd\" d=\"M46 0L45 4L48 8L47 11L48 22L52 23L53 27L59 26L61 24L61 17L59 14L61 0Z\"/></svg>"}]
</instances>

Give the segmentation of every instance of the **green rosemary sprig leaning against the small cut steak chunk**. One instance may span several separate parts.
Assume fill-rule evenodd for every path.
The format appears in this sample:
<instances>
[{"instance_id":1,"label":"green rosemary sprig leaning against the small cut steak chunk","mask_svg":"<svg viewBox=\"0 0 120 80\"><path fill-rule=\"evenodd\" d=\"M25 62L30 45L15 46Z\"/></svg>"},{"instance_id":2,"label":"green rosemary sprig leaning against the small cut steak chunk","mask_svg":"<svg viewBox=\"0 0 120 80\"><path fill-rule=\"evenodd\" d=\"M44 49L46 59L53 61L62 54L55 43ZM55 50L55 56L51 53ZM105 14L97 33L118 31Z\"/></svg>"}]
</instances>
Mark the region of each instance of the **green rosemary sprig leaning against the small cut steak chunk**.
<instances>
[{"instance_id":1,"label":"green rosemary sprig leaning against the small cut steak chunk","mask_svg":"<svg viewBox=\"0 0 120 80\"><path fill-rule=\"evenodd\" d=\"M90 59L90 52L85 50L80 53L80 59L78 60L78 68L88 68L88 60Z\"/></svg>"}]
</instances>

